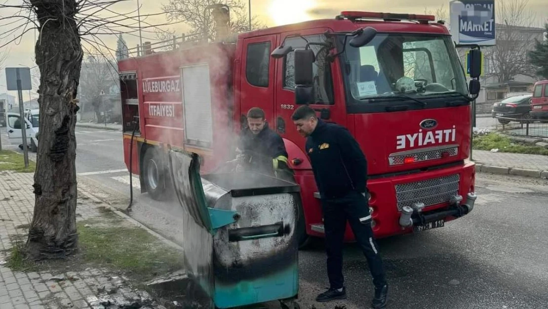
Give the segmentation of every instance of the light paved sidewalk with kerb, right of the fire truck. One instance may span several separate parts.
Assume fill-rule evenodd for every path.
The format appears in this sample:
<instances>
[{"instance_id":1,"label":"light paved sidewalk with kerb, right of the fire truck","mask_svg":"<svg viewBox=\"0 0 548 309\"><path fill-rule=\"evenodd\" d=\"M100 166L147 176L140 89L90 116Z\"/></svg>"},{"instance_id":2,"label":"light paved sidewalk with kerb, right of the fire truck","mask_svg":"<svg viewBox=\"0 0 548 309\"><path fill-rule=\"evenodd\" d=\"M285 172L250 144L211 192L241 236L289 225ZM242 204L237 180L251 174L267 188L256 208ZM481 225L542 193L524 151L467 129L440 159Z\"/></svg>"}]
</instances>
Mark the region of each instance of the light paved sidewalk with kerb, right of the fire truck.
<instances>
[{"instance_id":1,"label":"light paved sidewalk with kerb, right of the fire truck","mask_svg":"<svg viewBox=\"0 0 548 309\"><path fill-rule=\"evenodd\" d=\"M492 153L486 150L473 150L472 160L485 165L548 171L548 156L545 155Z\"/></svg>"}]
</instances>

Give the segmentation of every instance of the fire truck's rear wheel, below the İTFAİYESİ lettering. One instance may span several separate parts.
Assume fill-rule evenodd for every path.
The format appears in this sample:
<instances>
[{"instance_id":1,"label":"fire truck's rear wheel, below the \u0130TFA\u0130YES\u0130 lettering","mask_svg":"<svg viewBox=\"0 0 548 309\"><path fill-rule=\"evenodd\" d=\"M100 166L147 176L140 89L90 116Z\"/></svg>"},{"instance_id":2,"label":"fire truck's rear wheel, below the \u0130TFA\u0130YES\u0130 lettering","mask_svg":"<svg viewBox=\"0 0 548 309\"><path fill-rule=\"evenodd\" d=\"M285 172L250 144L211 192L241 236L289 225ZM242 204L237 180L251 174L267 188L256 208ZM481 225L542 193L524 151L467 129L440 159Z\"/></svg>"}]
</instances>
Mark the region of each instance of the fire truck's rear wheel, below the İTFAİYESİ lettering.
<instances>
[{"instance_id":1,"label":"fire truck's rear wheel, below the \u0130TFA\u0130YES\u0130 lettering","mask_svg":"<svg viewBox=\"0 0 548 309\"><path fill-rule=\"evenodd\" d=\"M149 148L145 152L143 160L143 178L146 186L146 192L153 200L163 200L165 198L165 180L167 170L164 160L155 148Z\"/></svg>"}]
</instances>

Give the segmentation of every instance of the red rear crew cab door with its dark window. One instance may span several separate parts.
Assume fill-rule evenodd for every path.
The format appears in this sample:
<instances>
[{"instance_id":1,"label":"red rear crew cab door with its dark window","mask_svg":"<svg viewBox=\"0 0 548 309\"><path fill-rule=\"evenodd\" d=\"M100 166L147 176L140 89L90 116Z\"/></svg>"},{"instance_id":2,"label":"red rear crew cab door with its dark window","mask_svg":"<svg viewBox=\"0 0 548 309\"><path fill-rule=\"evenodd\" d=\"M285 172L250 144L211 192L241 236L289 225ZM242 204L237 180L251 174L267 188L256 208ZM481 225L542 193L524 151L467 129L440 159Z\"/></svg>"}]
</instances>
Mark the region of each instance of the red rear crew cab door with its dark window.
<instances>
[{"instance_id":1,"label":"red rear crew cab door with its dark window","mask_svg":"<svg viewBox=\"0 0 548 309\"><path fill-rule=\"evenodd\" d=\"M273 128L274 123L274 69L275 61L270 53L276 48L277 35L246 38L243 41L241 113L259 107L265 111L266 120Z\"/></svg>"}]
</instances>

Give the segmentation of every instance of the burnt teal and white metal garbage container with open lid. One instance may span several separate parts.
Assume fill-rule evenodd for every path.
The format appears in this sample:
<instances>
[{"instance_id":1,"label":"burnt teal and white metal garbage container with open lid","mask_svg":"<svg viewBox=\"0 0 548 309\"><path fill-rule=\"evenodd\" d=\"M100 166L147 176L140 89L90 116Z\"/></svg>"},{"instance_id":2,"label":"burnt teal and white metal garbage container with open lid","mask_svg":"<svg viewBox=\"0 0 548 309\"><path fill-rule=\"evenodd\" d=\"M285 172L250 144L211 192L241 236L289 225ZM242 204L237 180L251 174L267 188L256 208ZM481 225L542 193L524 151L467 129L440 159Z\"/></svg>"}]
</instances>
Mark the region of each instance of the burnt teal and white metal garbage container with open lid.
<instances>
[{"instance_id":1,"label":"burnt teal and white metal garbage container with open lid","mask_svg":"<svg viewBox=\"0 0 548 309\"><path fill-rule=\"evenodd\" d=\"M298 308L298 184L259 173L199 175L196 154L170 150L185 210L186 272L211 307L279 300Z\"/></svg>"}]
</instances>

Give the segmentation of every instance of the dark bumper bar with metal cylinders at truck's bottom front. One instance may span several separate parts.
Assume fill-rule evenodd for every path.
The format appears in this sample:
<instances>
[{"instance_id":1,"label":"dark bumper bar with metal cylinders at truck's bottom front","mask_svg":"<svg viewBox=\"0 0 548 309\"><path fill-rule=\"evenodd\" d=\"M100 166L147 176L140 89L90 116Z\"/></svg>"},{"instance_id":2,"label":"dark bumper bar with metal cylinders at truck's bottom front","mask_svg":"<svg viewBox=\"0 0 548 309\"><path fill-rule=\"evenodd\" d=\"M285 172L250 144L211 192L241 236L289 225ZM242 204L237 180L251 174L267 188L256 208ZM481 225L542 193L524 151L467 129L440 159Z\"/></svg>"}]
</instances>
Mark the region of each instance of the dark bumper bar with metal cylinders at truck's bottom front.
<instances>
[{"instance_id":1,"label":"dark bumper bar with metal cylinders at truck's bottom front","mask_svg":"<svg viewBox=\"0 0 548 309\"><path fill-rule=\"evenodd\" d=\"M405 206L402 208L401 216L399 217L399 225L402 227L420 227L420 229L429 229L438 227L438 224L442 224L447 217L463 217L474 208L477 195L475 193L468 193L466 204L460 204L463 200L462 196L454 196L452 203L448 208L432 210L423 212L421 205L415 205L415 207Z\"/></svg>"}]
</instances>

